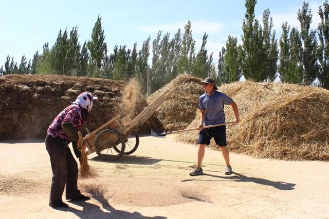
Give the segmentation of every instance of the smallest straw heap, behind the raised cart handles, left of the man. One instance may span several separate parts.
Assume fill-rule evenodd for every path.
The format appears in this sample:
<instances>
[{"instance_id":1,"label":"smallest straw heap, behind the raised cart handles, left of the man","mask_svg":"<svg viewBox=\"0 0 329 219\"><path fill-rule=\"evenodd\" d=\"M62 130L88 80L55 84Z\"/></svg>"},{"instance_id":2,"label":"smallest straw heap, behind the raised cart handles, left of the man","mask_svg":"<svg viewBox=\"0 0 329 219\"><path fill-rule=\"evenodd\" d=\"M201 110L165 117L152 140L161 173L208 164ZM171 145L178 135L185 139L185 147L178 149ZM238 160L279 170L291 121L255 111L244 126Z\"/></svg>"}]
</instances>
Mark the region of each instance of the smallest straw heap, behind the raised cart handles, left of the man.
<instances>
[{"instance_id":1,"label":"smallest straw heap, behind the raised cart handles, left of the man","mask_svg":"<svg viewBox=\"0 0 329 219\"><path fill-rule=\"evenodd\" d=\"M199 95L204 92L200 81L200 78L191 75L179 75L147 99L150 104L162 92L175 89L156 111L166 131L184 129L194 120Z\"/></svg>"}]
</instances>

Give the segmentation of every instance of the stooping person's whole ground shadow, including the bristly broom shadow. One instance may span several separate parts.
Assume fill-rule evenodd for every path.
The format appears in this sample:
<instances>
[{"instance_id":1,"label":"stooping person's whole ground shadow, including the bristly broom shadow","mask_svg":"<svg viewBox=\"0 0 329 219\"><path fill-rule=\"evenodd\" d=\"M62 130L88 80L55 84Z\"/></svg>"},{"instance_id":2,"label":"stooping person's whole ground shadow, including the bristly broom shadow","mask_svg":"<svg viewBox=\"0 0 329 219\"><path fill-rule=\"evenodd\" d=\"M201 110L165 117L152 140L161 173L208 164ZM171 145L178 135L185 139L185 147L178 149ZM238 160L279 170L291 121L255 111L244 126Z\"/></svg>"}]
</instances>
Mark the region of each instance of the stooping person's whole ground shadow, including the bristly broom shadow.
<instances>
[{"instance_id":1,"label":"stooping person's whole ground shadow, including the bristly broom shadow","mask_svg":"<svg viewBox=\"0 0 329 219\"><path fill-rule=\"evenodd\" d=\"M167 218L164 216L143 216L137 211L131 213L127 211L117 210L108 203L108 198L106 197L107 190L102 184L84 184L81 186L82 190L89 193L95 200L102 204L102 208L105 209L107 212L104 212L100 206L88 202L74 203L75 205L82 207L82 210L78 210L75 208L65 208L62 209L62 211L72 212L76 214L79 218Z\"/></svg>"}]
</instances>

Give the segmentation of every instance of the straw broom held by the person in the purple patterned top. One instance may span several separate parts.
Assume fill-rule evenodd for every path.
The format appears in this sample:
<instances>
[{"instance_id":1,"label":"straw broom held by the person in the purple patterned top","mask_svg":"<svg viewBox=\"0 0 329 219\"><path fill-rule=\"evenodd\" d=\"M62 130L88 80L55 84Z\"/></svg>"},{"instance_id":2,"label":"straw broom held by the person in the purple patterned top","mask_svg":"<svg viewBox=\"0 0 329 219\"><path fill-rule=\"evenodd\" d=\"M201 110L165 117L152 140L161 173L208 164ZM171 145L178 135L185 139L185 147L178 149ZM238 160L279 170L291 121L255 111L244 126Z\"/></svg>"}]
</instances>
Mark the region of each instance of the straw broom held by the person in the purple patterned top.
<instances>
[{"instance_id":1,"label":"straw broom held by the person in the purple patterned top","mask_svg":"<svg viewBox=\"0 0 329 219\"><path fill-rule=\"evenodd\" d=\"M79 161L80 161L80 174L79 175L81 178L96 177L96 176L98 176L97 171L94 168L90 167L88 164L86 151L83 148L83 140L82 140L81 132L78 132L78 135L79 135L78 150L81 153L81 157L79 157Z\"/></svg>"}]
</instances>

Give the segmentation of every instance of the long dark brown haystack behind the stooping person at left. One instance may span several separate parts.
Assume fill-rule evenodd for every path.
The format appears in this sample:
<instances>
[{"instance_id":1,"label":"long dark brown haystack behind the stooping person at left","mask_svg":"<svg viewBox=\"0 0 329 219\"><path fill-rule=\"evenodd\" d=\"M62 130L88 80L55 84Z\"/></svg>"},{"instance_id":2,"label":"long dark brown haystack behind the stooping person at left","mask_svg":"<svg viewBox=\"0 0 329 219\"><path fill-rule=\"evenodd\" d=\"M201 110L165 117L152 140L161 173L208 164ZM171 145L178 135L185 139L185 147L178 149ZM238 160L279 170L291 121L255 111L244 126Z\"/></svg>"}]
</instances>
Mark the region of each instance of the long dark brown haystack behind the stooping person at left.
<instances>
[{"instance_id":1,"label":"long dark brown haystack behind the stooping person at left","mask_svg":"<svg viewBox=\"0 0 329 219\"><path fill-rule=\"evenodd\" d=\"M123 109L122 93L125 82L109 79L69 77L64 75L5 75L0 77L0 140L44 138L47 128L79 93L89 91L99 97L92 112L90 122L84 124L93 131L111 120ZM134 113L147 106L145 99L137 94ZM145 123L152 122L154 117ZM151 127L140 127L150 130Z\"/></svg>"}]
</instances>

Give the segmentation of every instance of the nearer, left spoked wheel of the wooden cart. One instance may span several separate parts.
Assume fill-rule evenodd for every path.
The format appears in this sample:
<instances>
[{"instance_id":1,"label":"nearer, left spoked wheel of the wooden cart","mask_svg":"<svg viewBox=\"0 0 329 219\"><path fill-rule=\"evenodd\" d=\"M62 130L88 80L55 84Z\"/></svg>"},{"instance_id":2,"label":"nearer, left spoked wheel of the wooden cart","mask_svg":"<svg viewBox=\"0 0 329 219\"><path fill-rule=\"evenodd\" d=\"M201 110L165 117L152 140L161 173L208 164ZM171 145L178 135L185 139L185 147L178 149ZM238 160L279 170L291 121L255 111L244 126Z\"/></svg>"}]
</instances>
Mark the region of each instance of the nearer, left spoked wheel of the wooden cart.
<instances>
[{"instance_id":1,"label":"nearer, left spoked wheel of the wooden cart","mask_svg":"<svg viewBox=\"0 0 329 219\"><path fill-rule=\"evenodd\" d=\"M111 141L113 138L118 138L116 142ZM118 145L114 145L118 143ZM103 150L99 146L102 145ZM96 153L104 161L115 161L122 156L125 148L124 138L120 132L114 129L104 129L96 136L95 140Z\"/></svg>"}]
</instances>

